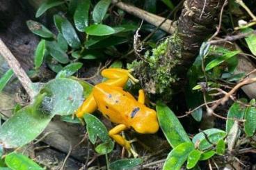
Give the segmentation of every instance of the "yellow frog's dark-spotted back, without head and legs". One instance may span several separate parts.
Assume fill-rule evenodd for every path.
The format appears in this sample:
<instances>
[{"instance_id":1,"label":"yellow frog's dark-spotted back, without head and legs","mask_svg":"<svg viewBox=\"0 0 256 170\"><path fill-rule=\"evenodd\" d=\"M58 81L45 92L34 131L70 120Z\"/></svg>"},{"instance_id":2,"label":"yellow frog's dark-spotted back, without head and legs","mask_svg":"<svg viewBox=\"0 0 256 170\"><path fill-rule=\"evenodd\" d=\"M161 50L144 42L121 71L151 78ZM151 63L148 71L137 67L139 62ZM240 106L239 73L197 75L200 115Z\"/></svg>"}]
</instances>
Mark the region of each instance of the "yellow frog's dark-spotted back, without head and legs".
<instances>
[{"instance_id":1,"label":"yellow frog's dark-spotted back, without head and legs","mask_svg":"<svg viewBox=\"0 0 256 170\"><path fill-rule=\"evenodd\" d=\"M122 87L112 87L101 83L95 85L93 89L93 96L97 102L97 107L104 117L110 119L116 124L130 125L131 112L138 108L144 107L138 103L134 96L122 90Z\"/></svg>"}]
</instances>

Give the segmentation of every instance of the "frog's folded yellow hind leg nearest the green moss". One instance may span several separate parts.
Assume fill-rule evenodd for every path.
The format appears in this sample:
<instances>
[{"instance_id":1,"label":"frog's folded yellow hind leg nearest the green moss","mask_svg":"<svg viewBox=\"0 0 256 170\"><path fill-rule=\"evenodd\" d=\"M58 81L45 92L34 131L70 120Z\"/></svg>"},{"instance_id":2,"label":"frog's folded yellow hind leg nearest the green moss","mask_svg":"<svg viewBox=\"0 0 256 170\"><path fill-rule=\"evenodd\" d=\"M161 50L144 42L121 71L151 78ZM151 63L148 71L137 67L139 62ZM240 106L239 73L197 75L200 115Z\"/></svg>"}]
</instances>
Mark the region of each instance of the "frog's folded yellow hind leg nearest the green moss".
<instances>
[{"instance_id":1,"label":"frog's folded yellow hind leg nearest the green moss","mask_svg":"<svg viewBox=\"0 0 256 170\"><path fill-rule=\"evenodd\" d=\"M106 80L104 84L124 87L129 78L132 83L138 83L138 80L130 74L131 71L132 70L127 69L104 69L102 71L102 76L109 78L109 80Z\"/></svg>"}]
</instances>

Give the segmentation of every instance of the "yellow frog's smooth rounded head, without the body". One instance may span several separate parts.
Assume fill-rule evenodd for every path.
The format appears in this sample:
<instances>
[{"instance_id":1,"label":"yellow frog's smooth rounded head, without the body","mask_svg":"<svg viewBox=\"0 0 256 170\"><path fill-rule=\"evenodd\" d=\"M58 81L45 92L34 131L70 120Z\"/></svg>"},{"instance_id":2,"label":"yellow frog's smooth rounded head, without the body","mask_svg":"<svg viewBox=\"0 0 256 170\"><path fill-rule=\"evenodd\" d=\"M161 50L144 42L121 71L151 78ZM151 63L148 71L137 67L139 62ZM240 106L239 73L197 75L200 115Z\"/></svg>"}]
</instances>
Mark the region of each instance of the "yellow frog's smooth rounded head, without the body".
<instances>
[{"instance_id":1,"label":"yellow frog's smooth rounded head, without the body","mask_svg":"<svg viewBox=\"0 0 256 170\"><path fill-rule=\"evenodd\" d=\"M137 133L157 133L159 124L156 111L150 108L135 108L133 111L137 113L132 118L131 128L134 128ZM133 112L131 112L132 114Z\"/></svg>"}]
</instances>

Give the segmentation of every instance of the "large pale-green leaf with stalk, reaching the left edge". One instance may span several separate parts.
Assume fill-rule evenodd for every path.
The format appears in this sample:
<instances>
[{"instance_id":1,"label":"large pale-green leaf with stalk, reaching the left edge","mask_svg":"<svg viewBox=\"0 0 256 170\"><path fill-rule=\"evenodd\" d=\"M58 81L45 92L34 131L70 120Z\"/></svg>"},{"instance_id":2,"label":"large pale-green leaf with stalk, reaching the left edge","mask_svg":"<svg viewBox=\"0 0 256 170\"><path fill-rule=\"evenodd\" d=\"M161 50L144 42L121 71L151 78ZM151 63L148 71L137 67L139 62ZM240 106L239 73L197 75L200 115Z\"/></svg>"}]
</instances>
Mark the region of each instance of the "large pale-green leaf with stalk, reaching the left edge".
<instances>
[{"instance_id":1,"label":"large pale-green leaf with stalk, reaching the left edge","mask_svg":"<svg viewBox=\"0 0 256 170\"><path fill-rule=\"evenodd\" d=\"M33 105L22 108L0 127L0 143L4 148L24 146L46 128L54 114L39 109L45 95L38 95Z\"/></svg>"}]
</instances>

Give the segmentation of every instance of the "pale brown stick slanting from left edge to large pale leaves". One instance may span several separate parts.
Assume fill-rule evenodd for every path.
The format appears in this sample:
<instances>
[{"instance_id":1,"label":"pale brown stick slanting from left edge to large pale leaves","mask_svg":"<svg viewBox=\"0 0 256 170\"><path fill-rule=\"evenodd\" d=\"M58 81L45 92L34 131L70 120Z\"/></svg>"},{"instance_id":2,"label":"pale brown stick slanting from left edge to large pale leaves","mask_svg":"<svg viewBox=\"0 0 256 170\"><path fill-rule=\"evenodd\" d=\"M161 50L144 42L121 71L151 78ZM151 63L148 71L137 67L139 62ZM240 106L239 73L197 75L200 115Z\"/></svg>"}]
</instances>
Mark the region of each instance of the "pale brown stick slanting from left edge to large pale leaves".
<instances>
[{"instance_id":1,"label":"pale brown stick slanting from left edge to large pale leaves","mask_svg":"<svg viewBox=\"0 0 256 170\"><path fill-rule=\"evenodd\" d=\"M31 88L32 81L30 80L29 76L26 75L26 72L24 71L24 69L22 69L22 66L19 64L19 61L15 58L15 56L13 56L13 53L10 52L10 50L8 49L6 44L3 43L1 38L0 38L0 55L6 59L10 68L13 69L13 72L19 79L19 82L22 83L22 86L24 87L26 92L29 94L29 98L32 101L33 97L35 96L35 92Z\"/></svg>"}]
</instances>

